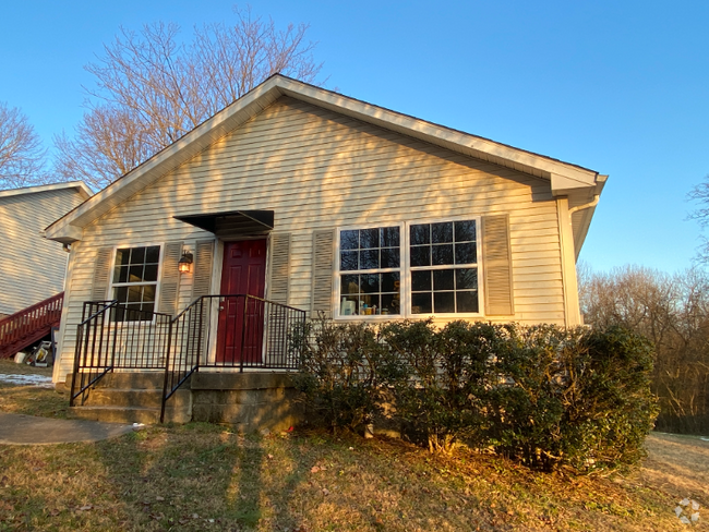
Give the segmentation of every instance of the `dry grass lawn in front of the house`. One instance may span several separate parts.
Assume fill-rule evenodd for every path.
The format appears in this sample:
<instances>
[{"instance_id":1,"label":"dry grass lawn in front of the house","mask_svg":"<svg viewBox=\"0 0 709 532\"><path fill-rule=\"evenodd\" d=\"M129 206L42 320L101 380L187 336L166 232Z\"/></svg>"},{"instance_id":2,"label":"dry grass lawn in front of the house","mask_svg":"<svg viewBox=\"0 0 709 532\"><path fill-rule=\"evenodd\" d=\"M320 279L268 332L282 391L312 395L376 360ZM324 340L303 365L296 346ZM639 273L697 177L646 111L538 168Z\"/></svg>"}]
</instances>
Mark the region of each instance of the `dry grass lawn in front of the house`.
<instances>
[{"instance_id":1,"label":"dry grass lawn in front of the house","mask_svg":"<svg viewBox=\"0 0 709 532\"><path fill-rule=\"evenodd\" d=\"M0 398L3 411L65 412L53 390L3 387ZM648 450L628 474L573 477L351 435L153 426L97 444L0 446L0 531L709 530L709 442L654 434ZM702 505L696 527L674 515L684 497Z\"/></svg>"}]
</instances>

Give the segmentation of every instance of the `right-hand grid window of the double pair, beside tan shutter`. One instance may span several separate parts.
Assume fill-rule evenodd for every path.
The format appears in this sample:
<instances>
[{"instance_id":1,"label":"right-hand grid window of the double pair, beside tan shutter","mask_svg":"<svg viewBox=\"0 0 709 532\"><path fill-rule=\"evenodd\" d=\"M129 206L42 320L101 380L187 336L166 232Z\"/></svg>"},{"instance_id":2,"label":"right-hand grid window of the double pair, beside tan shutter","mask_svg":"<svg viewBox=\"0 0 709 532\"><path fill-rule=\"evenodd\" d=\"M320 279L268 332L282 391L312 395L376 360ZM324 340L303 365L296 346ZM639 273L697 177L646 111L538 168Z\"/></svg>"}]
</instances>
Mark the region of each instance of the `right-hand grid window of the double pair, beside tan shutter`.
<instances>
[{"instance_id":1,"label":"right-hand grid window of the double pair, beside tan shutter","mask_svg":"<svg viewBox=\"0 0 709 532\"><path fill-rule=\"evenodd\" d=\"M411 314L479 312L474 220L409 226Z\"/></svg>"}]
</instances>

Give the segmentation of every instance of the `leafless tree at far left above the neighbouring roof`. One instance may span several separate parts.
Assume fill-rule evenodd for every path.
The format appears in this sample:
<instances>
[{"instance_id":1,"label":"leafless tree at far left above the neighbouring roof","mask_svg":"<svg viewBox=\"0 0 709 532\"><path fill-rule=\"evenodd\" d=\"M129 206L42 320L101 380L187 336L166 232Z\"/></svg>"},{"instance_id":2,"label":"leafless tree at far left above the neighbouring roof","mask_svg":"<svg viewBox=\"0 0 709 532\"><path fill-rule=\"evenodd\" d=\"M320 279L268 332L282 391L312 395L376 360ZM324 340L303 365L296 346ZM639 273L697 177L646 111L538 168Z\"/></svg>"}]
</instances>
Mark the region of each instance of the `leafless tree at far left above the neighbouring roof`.
<instances>
[{"instance_id":1,"label":"leafless tree at far left above the neighbouring roof","mask_svg":"<svg viewBox=\"0 0 709 532\"><path fill-rule=\"evenodd\" d=\"M0 101L0 190L45 182L45 155L27 117Z\"/></svg>"}]
</instances>

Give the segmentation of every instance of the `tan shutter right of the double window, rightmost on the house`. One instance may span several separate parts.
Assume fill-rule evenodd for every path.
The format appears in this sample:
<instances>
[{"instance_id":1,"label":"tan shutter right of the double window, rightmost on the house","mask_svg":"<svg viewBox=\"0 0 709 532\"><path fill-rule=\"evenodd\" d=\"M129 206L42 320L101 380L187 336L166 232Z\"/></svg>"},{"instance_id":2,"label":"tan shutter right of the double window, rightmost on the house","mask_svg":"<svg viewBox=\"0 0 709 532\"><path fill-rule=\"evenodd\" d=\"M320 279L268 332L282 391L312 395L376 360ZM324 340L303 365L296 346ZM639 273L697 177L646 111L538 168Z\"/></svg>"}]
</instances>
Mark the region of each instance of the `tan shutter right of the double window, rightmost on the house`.
<instances>
[{"instance_id":1,"label":"tan shutter right of the double window, rightmost on the house","mask_svg":"<svg viewBox=\"0 0 709 532\"><path fill-rule=\"evenodd\" d=\"M482 218L482 266L485 276L485 315L509 316L515 313L509 217Z\"/></svg>"}]
</instances>

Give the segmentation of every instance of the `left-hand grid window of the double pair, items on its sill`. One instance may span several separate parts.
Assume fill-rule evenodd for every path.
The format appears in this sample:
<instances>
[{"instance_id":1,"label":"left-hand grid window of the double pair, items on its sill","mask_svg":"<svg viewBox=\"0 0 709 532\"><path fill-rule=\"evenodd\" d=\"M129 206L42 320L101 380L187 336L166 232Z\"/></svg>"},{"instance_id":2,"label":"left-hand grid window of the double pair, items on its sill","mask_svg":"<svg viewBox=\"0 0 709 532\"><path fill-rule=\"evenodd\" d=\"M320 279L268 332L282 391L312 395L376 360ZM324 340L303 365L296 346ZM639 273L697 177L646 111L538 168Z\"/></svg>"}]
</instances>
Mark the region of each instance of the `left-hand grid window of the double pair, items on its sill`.
<instances>
[{"instance_id":1,"label":"left-hand grid window of the double pair, items on its sill","mask_svg":"<svg viewBox=\"0 0 709 532\"><path fill-rule=\"evenodd\" d=\"M400 228L339 233L340 316L401 313Z\"/></svg>"}]
</instances>

